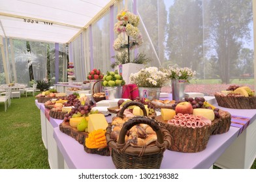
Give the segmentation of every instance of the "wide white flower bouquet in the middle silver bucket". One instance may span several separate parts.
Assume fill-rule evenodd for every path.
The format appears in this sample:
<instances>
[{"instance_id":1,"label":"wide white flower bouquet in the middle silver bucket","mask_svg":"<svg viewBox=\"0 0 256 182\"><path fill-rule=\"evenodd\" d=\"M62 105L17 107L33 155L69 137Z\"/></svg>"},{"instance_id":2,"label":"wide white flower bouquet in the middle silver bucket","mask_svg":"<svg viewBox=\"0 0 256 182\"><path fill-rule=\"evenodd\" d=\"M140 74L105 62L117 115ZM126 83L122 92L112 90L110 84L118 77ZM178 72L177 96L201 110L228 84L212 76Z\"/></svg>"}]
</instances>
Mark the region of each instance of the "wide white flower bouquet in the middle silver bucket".
<instances>
[{"instance_id":1,"label":"wide white flower bouquet in the middle silver bucket","mask_svg":"<svg viewBox=\"0 0 256 182\"><path fill-rule=\"evenodd\" d=\"M138 87L159 88L168 83L168 74L158 70L157 67L148 67L131 73L130 81Z\"/></svg>"}]
</instances>

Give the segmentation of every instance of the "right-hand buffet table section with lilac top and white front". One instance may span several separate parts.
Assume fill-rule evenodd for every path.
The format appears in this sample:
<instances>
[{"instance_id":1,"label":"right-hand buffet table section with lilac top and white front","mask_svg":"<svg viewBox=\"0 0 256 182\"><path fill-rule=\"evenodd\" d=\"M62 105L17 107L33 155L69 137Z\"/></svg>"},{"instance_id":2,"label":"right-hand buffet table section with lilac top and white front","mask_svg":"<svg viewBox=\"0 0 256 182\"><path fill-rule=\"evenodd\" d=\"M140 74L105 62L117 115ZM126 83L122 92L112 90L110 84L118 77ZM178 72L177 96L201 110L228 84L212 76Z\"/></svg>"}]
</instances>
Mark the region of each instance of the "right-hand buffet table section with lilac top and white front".
<instances>
[{"instance_id":1,"label":"right-hand buffet table section with lilac top and white front","mask_svg":"<svg viewBox=\"0 0 256 182\"><path fill-rule=\"evenodd\" d=\"M251 168L256 158L256 109L228 109L219 107L217 102L214 105L219 109L227 110L231 115L251 118L248 127L246 129L243 128L244 131L239 133L238 138L217 159L215 165L220 168Z\"/></svg>"}]
</instances>

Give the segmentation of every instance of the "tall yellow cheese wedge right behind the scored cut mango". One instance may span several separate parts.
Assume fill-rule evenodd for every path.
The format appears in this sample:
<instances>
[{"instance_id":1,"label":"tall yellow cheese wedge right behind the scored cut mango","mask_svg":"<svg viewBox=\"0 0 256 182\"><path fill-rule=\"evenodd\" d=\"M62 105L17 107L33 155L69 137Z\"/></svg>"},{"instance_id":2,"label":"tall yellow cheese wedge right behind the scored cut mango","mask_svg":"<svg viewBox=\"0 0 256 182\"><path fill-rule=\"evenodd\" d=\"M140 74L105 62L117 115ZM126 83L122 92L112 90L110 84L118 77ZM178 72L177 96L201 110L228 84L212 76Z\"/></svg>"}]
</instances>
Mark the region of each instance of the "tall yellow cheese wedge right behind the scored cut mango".
<instances>
[{"instance_id":1,"label":"tall yellow cheese wedge right behind the scored cut mango","mask_svg":"<svg viewBox=\"0 0 256 182\"><path fill-rule=\"evenodd\" d=\"M95 131L97 129L106 129L108 127L108 122L104 114L89 114L88 116L88 132Z\"/></svg>"}]
</instances>

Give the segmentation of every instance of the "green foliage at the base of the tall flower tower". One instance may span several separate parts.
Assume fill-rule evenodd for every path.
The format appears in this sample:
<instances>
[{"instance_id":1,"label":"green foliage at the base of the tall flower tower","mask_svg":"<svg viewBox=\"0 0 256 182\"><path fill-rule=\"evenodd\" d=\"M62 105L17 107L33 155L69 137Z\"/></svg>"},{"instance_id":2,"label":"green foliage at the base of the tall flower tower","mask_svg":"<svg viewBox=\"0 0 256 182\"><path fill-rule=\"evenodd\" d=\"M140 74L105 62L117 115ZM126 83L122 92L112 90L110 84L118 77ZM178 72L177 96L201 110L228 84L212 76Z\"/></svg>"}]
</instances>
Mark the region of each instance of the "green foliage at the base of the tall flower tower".
<instances>
[{"instance_id":1,"label":"green foliage at the base of the tall flower tower","mask_svg":"<svg viewBox=\"0 0 256 182\"><path fill-rule=\"evenodd\" d=\"M120 64L126 64L129 62L136 63L136 64L148 64L148 62L151 61L151 59L146 57L144 53L139 53L135 57L135 59L129 61L127 51L123 51L121 54L115 55L114 58L116 59L116 61L110 65L111 68L115 68L115 66L118 66Z\"/></svg>"}]
</instances>

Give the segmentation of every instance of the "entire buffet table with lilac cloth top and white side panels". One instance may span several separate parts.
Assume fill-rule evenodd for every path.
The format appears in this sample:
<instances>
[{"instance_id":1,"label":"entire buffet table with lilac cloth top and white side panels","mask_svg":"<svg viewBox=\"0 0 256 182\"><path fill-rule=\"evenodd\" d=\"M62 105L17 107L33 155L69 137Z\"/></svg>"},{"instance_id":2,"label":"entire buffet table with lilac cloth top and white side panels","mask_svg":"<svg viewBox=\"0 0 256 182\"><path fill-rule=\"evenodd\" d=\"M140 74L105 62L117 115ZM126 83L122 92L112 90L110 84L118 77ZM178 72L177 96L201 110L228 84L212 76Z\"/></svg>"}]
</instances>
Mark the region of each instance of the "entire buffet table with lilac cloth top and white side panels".
<instances>
[{"instance_id":1,"label":"entire buffet table with lilac cloth top and white side panels","mask_svg":"<svg viewBox=\"0 0 256 182\"><path fill-rule=\"evenodd\" d=\"M209 97L208 99L211 103L216 105L216 102L214 103L212 98ZM36 105L40 108L40 112L44 110L43 104L37 103L36 101ZM213 164L221 168L250 168L256 153L256 144L252 142L255 141L253 137L255 138L256 133L256 122L254 122L256 119L256 109L238 110L217 107L227 110L236 116L250 118L249 126L242 129L240 127L231 126L227 133L210 136L206 149L198 153L181 153L166 150L161 168L207 169ZM111 116L106 116L106 119L110 122ZM84 146L79 144L71 136L62 133L59 130L59 124L61 122L62 120L54 118L50 118L49 122L46 122L52 129L51 132L48 132L50 129L47 127L47 136L54 140L56 168L115 168L111 157L86 153ZM50 145L48 145L48 151L50 150L49 148L52 148L52 146L50 147ZM234 157L236 160L233 159Z\"/></svg>"}]
</instances>

